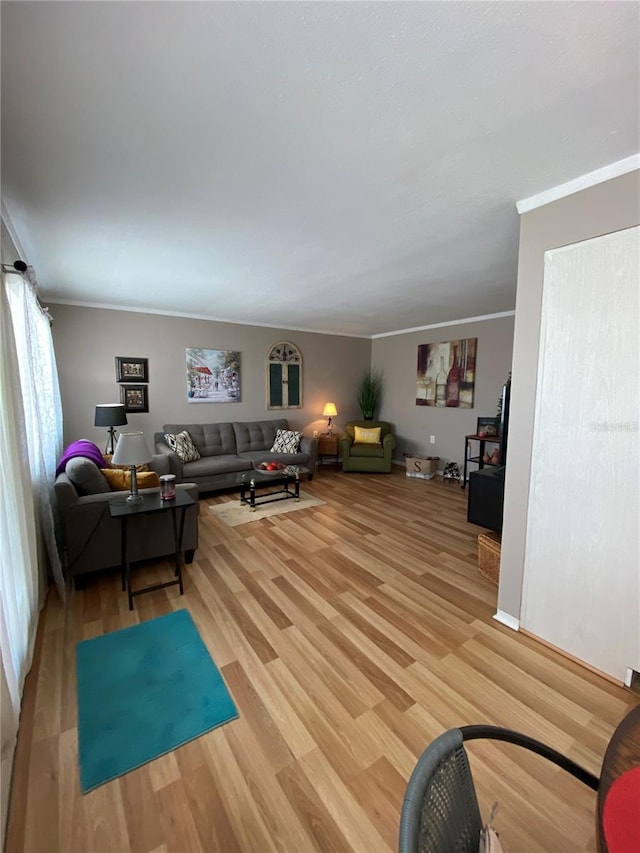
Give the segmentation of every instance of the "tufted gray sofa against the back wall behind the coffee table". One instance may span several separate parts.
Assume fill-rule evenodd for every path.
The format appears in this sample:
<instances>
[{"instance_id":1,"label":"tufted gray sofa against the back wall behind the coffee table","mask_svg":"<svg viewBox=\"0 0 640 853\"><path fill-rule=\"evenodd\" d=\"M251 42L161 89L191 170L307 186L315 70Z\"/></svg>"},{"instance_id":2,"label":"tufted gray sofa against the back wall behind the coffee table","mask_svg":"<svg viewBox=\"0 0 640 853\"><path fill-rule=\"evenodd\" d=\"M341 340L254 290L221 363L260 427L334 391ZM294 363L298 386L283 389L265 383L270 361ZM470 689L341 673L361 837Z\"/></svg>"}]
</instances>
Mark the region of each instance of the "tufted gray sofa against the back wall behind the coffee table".
<instances>
[{"instance_id":1,"label":"tufted gray sofa against the back wall behind the coffee table","mask_svg":"<svg viewBox=\"0 0 640 853\"><path fill-rule=\"evenodd\" d=\"M164 454L176 482L197 483L200 493L233 488L237 475L250 471L254 462L273 459L290 465L304 465L313 478L318 442L303 436L297 453L270 453L276 432L288 430L286 418L212 424L165 424L154 435L156 453ZM186 430L200 454L195 462L182 462L165 440L165 434Z\"/></svg>"}]
</instances>

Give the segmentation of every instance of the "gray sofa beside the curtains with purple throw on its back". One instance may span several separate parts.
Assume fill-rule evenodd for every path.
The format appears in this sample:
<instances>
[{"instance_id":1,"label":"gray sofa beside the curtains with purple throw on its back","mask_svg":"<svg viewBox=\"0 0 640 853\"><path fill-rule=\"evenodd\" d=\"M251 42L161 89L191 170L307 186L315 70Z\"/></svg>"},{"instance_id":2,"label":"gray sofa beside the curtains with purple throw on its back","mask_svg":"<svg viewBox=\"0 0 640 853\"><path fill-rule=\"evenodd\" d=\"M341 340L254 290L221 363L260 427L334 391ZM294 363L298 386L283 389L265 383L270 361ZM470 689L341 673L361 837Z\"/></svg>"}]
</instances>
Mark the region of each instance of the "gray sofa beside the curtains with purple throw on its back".
<instances>
[{"instance_id":1,"label":"gray sofa beside the curtains with purple throw on its back","mask_svg":"<svg viewBox=\"0 0 640 853\"><path fill-rule=\"evenodd\" d=\"M96 480L100 469L93 462L85 461L89 463L87 468L93 466L95 469L89 478L78 479L67 464L75 482L62 472L54 485L64 548L63 564L66 573L74 578L120 565L121 524L119 519L111 518L109 501L122 499L128 494L127 491L112 492L108 484L106 488L102 487ZM162 455L154 455L149 467L158 475L169 473L167 458ZM104 482L106 484L106 480ZM185 562L190 563L198 547L198 487L194 483L184 483L178 488L196 501L186 511L182 541ZM158 491L158 487L140 489L140 494ZM167 523L165 513L129 519L127 548L132 563L174 554L173 526Z\"/></svg>"}]
</instances>

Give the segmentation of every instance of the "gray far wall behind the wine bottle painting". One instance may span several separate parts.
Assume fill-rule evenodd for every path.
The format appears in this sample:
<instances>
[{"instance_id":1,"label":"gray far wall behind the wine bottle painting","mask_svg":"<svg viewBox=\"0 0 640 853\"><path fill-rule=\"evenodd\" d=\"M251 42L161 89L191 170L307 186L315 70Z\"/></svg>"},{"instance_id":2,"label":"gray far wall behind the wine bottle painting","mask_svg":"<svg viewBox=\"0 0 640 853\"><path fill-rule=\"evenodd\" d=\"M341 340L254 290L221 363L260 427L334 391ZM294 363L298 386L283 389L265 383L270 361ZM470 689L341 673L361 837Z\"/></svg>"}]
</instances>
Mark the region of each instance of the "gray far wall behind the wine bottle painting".
<instances>
[{"instance_id":1,"label":"gray far wall behind the wine bottle painting","mask_svg":"<svg viewBox=\"0 0 640 853\"><path fill-rule=\"evenodd\" d=\"M403 453L440 456L440 468L452 460L462 472L465 435L475 433L478 417L496 414L511 370L513 325L508 316L374 339L372 363L384 372L380 417L395 425L398 438L394 458L402 460ZM418 345L460 338L478 338L473 409L416 406ZM430 435L435 444L429 444Z\"/></svg>"}]
</instances>

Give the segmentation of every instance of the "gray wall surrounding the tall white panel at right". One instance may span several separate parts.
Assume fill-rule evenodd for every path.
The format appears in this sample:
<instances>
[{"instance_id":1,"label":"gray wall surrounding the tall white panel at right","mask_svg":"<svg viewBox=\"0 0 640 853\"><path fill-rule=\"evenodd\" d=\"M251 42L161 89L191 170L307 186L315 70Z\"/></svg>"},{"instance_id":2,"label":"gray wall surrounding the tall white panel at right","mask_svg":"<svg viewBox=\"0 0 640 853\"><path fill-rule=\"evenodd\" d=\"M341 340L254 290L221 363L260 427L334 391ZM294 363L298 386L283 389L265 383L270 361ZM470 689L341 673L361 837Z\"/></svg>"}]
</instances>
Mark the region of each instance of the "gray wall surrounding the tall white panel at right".
<instances>
[{"instance_id":1,"label":"gray wall surrounding the tall white panel at right","mask_svg":"<svg viewBox=\"0 0 640 853\"><path fill-rule=\"evenodd\" d=\"M599 237L640 223L640 171L623 175L532 210L520 223L518 292L509 422L509 465L505 484L504 529L498 608L520 618L527 531L529 478L536 400L540 317L547 249ZM602 298L607 298L603 292ZM632 361L630 361L630 365ZM598 389L593 389L594 399ZM568 459L572 465L584 460ZM606 501L608 484L583 500Z\"/></svg>"}]
</instances>

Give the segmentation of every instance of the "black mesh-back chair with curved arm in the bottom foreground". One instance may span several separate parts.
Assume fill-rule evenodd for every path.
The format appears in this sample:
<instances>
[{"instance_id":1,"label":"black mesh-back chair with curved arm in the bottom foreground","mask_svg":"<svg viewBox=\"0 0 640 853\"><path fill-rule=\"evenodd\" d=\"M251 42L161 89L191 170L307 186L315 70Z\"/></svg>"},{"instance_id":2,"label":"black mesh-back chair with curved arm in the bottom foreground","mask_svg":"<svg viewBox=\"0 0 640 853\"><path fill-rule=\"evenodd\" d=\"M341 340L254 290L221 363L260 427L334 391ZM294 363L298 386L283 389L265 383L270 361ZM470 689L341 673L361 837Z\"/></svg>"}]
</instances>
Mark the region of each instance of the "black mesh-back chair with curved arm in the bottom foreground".
<instances>
[{"instance_id":1,"label":"black mesh-back chair with curved arm in the bottom foreground","mask_svg":"<svg viewBox=\"0 0 640 853\"><path fill-rule=\"evenodd\" d=\"M420 756L402 804L400 853L478 853L483 826L464 741L502 740L536 752L594 791L598 778L534 738L498 726L461 726Z\"/></svg>"}]
</instances>

